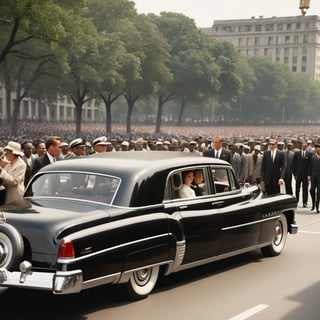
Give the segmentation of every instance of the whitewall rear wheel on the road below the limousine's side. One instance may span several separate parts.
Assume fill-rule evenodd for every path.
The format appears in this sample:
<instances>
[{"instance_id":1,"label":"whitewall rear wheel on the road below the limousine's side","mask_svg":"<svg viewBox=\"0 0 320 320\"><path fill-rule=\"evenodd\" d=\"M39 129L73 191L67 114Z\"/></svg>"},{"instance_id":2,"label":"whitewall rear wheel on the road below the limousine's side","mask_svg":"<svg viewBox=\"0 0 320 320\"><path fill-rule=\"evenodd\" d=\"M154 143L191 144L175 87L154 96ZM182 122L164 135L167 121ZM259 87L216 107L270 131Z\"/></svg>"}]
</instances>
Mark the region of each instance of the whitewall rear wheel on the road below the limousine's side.
<instances>
[{"instance_id":1,"label":"whitewall rear wheel on the road below the limousine's side","mask_svg":"<svg viewBox=\"0 0 320 320\"><path fill-rule=\"evenodd\" d=\"M125 284L128 298L130 300L146 298L157 283L159 269L159 266L153 266L132 272L129 281Z\"/></svg>"}]
</instances>

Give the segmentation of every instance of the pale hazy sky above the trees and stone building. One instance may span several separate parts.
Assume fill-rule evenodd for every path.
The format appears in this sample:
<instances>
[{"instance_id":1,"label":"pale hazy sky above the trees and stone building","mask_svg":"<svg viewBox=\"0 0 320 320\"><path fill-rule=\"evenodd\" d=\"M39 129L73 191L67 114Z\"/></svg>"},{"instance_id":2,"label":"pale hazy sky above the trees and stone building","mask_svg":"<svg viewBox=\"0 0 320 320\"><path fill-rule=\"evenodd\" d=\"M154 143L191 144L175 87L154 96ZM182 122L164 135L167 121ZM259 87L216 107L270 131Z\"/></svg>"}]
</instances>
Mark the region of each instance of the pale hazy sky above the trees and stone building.
<instances>
[{"instance_id":1,"label":"pale hazy sky above the trees and stone building","mask_svg":"<svg viewBox=\"0 0 320 320\"><path fill-rule=\"evenodd\" d=\"M214 20L301 15L300 0L132 0L138 13L178 12L192 18L200 28ZM311 0L307 15L320 16L320 0Z\"/></svg>"}]
</instances>

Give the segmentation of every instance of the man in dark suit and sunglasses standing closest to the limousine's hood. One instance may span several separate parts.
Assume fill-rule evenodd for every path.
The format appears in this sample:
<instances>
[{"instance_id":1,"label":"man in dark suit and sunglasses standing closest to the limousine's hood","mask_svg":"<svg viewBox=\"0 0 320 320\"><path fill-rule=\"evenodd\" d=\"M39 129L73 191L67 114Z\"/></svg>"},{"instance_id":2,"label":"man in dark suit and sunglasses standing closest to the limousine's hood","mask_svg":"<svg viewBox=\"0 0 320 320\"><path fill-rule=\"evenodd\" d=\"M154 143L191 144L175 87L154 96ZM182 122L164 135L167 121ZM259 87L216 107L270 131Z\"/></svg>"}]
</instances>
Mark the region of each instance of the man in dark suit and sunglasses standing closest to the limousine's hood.
<instances>
[{"instance_id":1,"label":"man in dark suit and sunglasses standing closest to the limousine's hood","mask_svg":"<svg viewBox=\"0 0 320 320\"><path fill-rule=\"evenodd\" d=\"M277 140L270 139L269 150L264 152L261 164L261 186L266 194L280 193L285 176L284 152L277 149Z\"/></svg>"}]
</instances>

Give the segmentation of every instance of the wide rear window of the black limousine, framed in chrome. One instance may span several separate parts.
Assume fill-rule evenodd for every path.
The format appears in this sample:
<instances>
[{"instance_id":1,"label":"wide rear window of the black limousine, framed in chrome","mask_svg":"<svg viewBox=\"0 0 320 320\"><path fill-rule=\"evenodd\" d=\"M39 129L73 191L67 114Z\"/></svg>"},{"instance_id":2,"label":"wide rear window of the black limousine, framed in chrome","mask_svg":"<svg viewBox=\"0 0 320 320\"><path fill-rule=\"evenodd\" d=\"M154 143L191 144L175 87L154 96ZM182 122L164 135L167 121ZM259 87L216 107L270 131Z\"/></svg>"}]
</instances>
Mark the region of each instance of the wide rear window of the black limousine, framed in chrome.
<instances>
[{"instance_id":1,"label":"wide rear window of the black limousine, framed in chrome","mask_svg":"<svg viewBox=\"0 0 320 320\"><path fill-rule=\"evenodd\" d=\"M25 197L77 198L112 204L120 179L89 173L46 173L37 177Z\"/></svg>"}]
</instances>

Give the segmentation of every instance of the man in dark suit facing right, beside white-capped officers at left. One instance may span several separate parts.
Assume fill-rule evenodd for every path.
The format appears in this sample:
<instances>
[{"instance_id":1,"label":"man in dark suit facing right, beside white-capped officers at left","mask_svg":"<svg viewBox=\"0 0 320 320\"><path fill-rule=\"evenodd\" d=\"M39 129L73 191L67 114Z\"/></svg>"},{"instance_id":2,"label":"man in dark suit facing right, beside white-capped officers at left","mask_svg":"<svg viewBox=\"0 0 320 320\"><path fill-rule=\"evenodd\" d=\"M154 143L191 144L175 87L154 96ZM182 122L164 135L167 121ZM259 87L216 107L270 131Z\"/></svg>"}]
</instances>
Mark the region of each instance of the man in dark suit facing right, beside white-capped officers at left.
<instances>
[{"instance_id":1,"label":"man in dark suit facing right, beside white-capped officers at left","mask_svg":"<svg viewBox=\"0 0 320 320\"><path fill-rule=\"evenodd\" d=\"M31 176L36 174L42 167L55 162L61 153L61 139L57 136L50 136L46 140L47 153L34 159Z\"/></svg>"}]
</instances>

